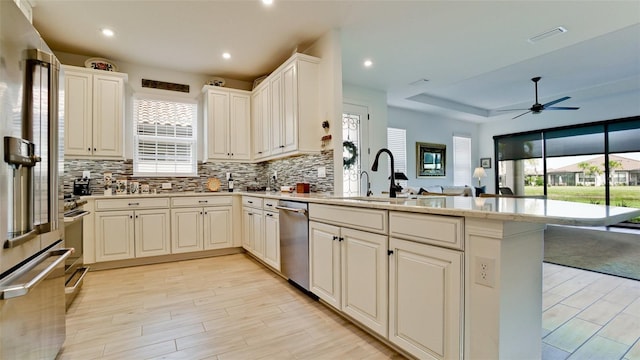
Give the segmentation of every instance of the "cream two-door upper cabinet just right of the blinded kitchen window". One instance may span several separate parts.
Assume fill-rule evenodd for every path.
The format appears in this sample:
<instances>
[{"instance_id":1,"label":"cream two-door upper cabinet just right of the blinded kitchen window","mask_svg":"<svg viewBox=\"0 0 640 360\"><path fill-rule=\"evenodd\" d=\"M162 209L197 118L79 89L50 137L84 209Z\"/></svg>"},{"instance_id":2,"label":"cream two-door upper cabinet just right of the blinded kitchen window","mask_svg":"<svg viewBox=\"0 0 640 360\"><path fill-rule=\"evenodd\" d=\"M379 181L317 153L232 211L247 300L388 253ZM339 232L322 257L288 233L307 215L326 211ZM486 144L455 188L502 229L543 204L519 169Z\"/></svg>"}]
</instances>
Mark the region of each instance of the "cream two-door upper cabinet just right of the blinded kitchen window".
<instances>
[{"instance_id":1,"label":"cream two-door upper cabinet just right of the blinded kitchen window","mask_svg":"<svg viewBox=\"0 0 640 360\"><path fill-rule=\"evenodd\" d=\"M251 159L251 93L205 86L207 160Z\"/></svg>"}]
</instances>

